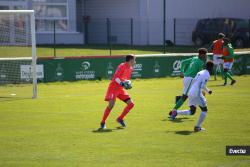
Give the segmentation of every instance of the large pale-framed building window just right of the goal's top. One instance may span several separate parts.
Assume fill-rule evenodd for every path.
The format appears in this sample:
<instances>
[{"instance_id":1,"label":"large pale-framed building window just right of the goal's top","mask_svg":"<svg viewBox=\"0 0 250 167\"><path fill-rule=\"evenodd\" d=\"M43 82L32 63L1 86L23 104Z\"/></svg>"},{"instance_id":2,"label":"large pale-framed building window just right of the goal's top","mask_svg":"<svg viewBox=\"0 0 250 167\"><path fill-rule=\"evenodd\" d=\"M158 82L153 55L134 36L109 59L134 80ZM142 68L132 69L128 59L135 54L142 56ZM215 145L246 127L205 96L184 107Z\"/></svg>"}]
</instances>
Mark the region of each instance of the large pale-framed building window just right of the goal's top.
<instances>
[{"instance_id":1,"label":"large pale-framed building window just right of the goal's top","mask_svg":"<svg viewBox=\"0 0 250 167\"><path fill-rule=\"evenodd\" d=\"M38 32L68 31L68 0L33 0Z\"/></svg>"}]
</instances>

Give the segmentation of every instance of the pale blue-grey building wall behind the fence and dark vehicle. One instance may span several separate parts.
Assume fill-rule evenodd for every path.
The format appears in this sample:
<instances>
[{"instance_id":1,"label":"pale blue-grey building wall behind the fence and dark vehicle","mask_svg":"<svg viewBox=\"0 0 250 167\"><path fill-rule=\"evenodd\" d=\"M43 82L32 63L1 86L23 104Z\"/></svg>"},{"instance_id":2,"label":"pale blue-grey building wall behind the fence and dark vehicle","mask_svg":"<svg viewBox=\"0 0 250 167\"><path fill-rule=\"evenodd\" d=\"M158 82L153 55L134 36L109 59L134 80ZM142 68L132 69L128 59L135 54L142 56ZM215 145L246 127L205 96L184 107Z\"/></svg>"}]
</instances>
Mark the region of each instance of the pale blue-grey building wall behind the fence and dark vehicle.
<instances>
[{"instance_id":1,"label":"pale blue-grey building wall behind the fence and dark vehicle","mask_svg":"<svg viewBox=\"0 0 250 167\"><path fill-rule=\"evenodd\" d=\"M1 0L0 5L18 5L21 1ZM163 42L163 0L68 0L69 32L57 34L60 44L84 43L83 16L91 17L90 42L107 42L107 20L111 21L114 43L160 45ZM25 2L32 9L31 0ZM166 38L174 40L176 18L177 44L190 45L191 32L198 19L213 17L250 18L250 0L166 0ZM77 33L80 32L80 33ZM64 38L61 38L64 36ZM48 38L49 37L49 38ZM51 43L51 33L38 33L37 43ZM74 41L72 41L74 39ZM46 42L48 41L48 42Z\"/></svg>"}]
</instances>

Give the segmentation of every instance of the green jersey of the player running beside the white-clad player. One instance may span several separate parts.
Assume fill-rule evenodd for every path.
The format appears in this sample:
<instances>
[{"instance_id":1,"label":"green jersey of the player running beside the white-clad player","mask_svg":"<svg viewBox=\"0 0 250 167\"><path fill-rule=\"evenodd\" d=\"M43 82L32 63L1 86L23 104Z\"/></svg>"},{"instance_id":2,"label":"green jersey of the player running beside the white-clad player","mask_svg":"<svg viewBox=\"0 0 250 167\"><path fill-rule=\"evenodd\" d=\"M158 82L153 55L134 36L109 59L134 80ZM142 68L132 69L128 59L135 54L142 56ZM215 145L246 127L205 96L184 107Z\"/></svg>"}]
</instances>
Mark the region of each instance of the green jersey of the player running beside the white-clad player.
<instances>
[{"instance_id":1,"label":"green jersey of the player running beside the white-clad player","mask_svg":"<svg viewBox=\"0 0 250 167\"><path fill-rule=\"evenodd\" d=\"M181 72L185 77L194 78L204 68L205 62L199 57L192 57L181 62Z\"/></svg>"}]
</instances>

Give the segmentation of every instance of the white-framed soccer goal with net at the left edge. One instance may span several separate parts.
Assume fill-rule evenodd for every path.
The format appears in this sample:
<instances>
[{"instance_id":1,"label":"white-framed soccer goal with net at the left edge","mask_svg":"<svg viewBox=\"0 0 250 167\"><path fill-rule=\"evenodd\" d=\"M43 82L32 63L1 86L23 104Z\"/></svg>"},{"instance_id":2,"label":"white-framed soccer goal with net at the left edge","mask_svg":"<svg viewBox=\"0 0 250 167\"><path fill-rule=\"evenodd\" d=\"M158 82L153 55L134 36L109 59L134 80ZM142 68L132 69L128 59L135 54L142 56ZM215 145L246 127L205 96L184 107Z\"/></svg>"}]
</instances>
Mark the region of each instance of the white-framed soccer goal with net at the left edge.
<instances>
[{"instance_id":1,"label":"white-framed soccer goal with net at the left edge","mask_svg":"<svg viewBox=\"0 0 250 167\"><path fill-rule=\"evenodd\" d=\"M0 10L0 97L37 97L33 10Z\"/></svg>"}]
</instances>

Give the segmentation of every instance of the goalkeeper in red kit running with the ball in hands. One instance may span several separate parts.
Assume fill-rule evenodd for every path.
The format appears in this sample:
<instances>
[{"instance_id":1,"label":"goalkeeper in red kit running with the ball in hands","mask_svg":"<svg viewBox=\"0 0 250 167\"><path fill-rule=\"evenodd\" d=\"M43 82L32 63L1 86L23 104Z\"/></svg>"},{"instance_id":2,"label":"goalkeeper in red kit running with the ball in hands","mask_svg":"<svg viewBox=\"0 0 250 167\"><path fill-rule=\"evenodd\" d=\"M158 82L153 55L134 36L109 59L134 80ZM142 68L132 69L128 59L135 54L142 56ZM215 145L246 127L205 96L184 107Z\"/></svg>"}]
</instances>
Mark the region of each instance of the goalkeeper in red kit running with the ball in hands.
<instances>
[{"instance_id":1,"label":"goalkeeper in red kit running with the ball in hands","mask_svg":"<svg viewBox=\"0 0 250 167\"><path fill-rule=\"evenodd\" d=\"M129 113L129 111L134 107L134 102L131 100L130 96L124 89L131 89L131 73L133 70L133 65L135 64L135 56L134 55L127 55L126 62L121 63L116 72L109 83L109 87L105 96L105 101L108 102L108 106L106 107L102 120L101 120L101 127L99 130L103 130L106 128L105 122L108 118L112 108L115 105L116 98L120 99L121 101L125 102L127 106L124 108L121 115L116 119L116 121L122 126L126 127L124 122L124 117Z\"/></svg>"}]
</instances>

